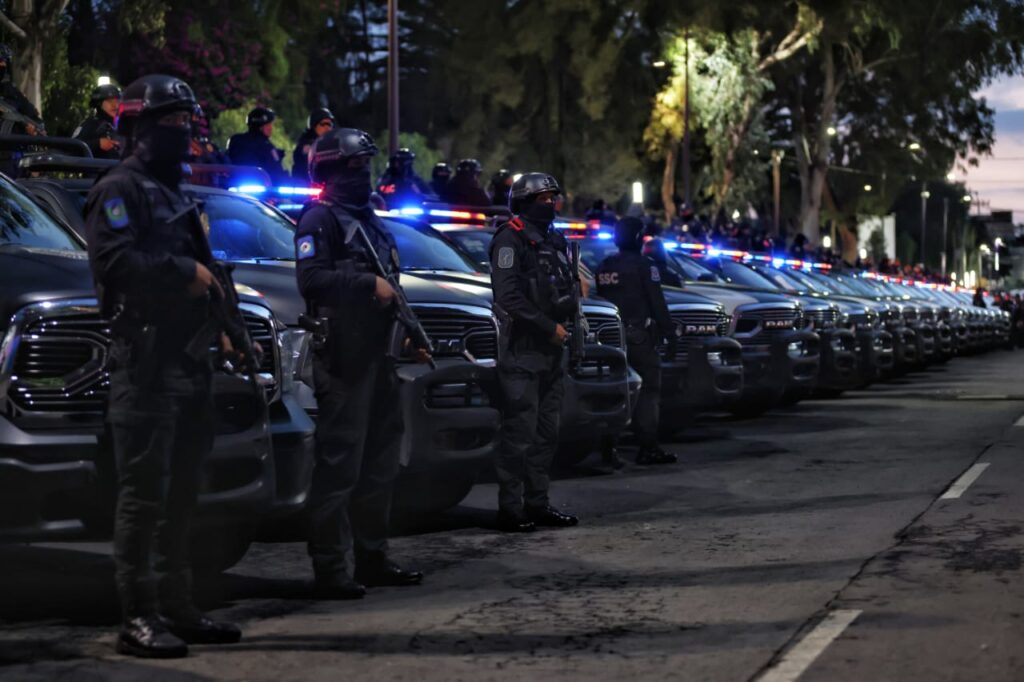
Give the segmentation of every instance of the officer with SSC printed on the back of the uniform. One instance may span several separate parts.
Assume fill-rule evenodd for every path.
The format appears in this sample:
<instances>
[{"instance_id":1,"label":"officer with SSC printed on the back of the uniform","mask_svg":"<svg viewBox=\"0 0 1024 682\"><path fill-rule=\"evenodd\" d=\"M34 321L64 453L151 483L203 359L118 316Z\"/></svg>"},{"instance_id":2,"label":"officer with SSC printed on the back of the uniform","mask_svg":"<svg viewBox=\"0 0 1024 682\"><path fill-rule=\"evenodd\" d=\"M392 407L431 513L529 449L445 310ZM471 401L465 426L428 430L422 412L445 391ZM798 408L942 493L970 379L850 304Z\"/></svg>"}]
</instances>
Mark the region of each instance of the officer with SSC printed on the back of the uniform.
<instances>
[{"instance_id":1,"label":"officer with SSC printed on the back of the uniform","mask_svg":"<svg viewBox=\"0 0 1024 682\"><path fill-rule=\"evenodd\" d=\"M633 411L633 432L640 441L637 464L672 464L676 456L657 444L662 400L662 357L658 342L678 343L679 330L669 315L657 264L640 253L643 222L623 218L615 225L618 253L608 256L595 272L598 293L618 306L626 326L627 357L643 384Z\"/></svg>"}]
</instances>

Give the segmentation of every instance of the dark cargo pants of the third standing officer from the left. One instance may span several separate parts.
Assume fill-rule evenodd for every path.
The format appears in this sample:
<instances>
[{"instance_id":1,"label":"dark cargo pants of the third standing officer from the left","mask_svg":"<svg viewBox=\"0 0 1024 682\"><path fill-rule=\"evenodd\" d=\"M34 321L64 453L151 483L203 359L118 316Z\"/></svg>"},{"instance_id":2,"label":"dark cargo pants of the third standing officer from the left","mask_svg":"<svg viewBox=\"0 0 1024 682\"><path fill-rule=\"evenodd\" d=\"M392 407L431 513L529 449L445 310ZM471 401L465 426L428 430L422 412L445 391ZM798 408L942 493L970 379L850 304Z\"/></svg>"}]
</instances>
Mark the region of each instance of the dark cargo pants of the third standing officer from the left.
<instances>
[{"instance_id":1,"label":"dark cargo pants of the third standing officer from the left","mask_svg":"<svg viewBox=\"0 0 1024 682\"><path fill-rule=\"evenodd\" d=\"M565 393L563 355L510 351L498 366L502 433L496 470L498 508L522 514L548 506L551 462Z\"/></svg>"}]
</instances>

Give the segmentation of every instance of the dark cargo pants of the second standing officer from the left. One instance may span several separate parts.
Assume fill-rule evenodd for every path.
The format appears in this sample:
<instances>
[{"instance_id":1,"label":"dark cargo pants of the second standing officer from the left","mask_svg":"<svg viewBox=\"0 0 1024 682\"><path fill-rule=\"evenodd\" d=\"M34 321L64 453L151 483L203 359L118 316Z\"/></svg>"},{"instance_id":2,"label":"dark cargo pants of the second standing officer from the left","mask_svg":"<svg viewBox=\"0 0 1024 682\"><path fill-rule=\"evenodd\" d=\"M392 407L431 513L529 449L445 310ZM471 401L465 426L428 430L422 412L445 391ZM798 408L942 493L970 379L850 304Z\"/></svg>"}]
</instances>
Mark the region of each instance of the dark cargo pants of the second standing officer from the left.
<instances>
[{"instance_id":1,"label":"dark cargo pants of the second standing officer from the left","mask_svg":"<svg viewBox=\"0 0 1024 682\"><path fill-rule=\"evenodd\" d=\"M313 357L316 454L309 499L309 556L318 579L387 558L402 415L394 363L366 358L344 377Z\"/></svg>"}]
</instances>

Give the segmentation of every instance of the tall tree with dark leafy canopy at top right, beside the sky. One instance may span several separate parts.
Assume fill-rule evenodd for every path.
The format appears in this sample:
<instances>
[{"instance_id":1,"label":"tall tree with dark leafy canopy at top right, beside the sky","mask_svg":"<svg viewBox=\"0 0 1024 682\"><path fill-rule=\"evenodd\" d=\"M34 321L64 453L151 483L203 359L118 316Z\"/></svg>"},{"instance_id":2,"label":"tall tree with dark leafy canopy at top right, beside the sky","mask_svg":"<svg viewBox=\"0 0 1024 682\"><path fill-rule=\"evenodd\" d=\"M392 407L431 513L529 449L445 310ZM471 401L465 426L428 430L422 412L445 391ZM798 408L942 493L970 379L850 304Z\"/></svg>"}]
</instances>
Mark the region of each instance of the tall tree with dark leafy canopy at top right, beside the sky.
<instances>
[{"instance_id":1,"label":"tall tree with dark leafy canopy at top right, beside the sky","mask_svg":"<svg viewBox=\"0 0 1024 682\"><path fill-rule=\"evenodd\" d=\"M837 161L883 166L923 151L922 173L991 145L991 111L973 93L1022 67L1024 5L1015 0L807 0L821 31L775 70L776 111L793 137L800 226L818 238L822 193ZM835 129L839 134L829 134ZM849 148L837 143L850 131ZM913 147L911 148L911 145ZM906 163L900 161L897 166ZM870 172L870 170L868 169Z\"/></svg>"}]
</instances>

